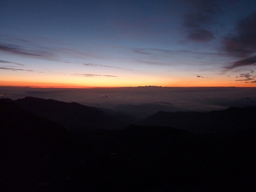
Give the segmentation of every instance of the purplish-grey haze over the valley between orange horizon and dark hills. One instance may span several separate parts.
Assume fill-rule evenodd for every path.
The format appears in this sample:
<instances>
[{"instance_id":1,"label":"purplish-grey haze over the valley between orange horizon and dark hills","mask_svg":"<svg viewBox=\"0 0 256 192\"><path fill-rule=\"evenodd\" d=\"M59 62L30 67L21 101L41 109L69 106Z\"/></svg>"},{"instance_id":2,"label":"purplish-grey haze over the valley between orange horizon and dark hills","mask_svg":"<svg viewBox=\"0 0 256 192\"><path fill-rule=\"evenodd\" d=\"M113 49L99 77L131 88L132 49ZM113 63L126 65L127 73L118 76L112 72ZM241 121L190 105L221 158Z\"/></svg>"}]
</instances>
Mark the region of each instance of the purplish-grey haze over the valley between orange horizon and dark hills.
<instances>
[{"instance_id":1,"label":"purplish-grey haze over the valley between orange horizon and dark hills","mask_svg":"<svg viewBox=\"0 0 256 192\"><path fill-rule=\"evenodd\" d=\"M77 102L96 108L146 117L158 111L213 111L230 106L256 105L253 87L120 87L57 89L0 87L1 97L39 97Z\"/></svg>"}]
</instances>

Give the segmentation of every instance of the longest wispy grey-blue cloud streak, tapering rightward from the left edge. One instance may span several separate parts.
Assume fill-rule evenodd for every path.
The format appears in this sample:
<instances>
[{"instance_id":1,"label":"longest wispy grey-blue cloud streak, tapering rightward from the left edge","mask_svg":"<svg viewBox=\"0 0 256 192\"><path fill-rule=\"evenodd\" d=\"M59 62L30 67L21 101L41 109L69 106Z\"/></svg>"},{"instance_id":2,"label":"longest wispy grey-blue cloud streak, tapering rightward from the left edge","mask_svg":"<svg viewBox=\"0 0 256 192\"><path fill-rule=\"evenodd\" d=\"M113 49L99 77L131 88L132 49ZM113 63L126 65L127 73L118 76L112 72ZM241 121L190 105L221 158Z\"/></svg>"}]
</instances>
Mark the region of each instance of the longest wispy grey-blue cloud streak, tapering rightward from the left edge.
<instances>
[{"instance_id":1,"label":"longest wispy grey-blue cloud streak, tapering rightward from the left edge","mask_svg":"<svg viewBox=\"0 0 256 192\"><path fill-rule=\"evenodd\" d=\"M3 34L0 34L0 37L4 37L0 38L0 52L5 52L13 55L58 62L68 62L63 60L65 56L71 56L72 58L79 59L106 59L105 57L99 56L95 53L88 53L86 51L66 48L66 46L61 44L60 42L49 38L30 37L30 40L26 40L20 37L8 36ZM35 40L35 42L33 42L31 39ZM45 42L49 42L49 45L51 46L44 46ZM52 44L54 46L52 46Z\"/></svg>"}]
</instances>

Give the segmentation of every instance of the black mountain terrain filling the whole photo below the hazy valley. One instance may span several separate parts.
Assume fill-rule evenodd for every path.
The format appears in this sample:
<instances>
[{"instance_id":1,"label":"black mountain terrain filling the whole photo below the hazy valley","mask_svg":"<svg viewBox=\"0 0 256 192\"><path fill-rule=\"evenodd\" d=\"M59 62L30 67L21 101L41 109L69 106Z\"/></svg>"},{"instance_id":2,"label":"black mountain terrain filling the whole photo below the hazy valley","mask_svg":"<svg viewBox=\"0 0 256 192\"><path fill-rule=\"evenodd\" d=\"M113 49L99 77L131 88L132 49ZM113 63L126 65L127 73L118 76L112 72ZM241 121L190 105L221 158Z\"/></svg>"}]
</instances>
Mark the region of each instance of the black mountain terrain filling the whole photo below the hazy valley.
<instances>
[{"instance_id":1,"label":"black mountain terrain filling the whole photo below the hazy valley","mask_svg":"<svg viewBox=\"0 0 256 192\"><path fill-rule=\"evenodd\" d=\"M51 102L51 106L60 104ZM212 121L198 122L200 129L204 125L208 131L196 130L197 134L189 132L189 127L184 130L149 126L149 119L143 120L146 125L140 121L140 125L103 130L96 121L103 118L102 122L110 126L109 121L117 121L116 116L112 113L106 118L110 114L92 109L99 117L89 119L88 114L83 122L96 124L96 130L85 125L84 131L77 132L64 128L63 120L54 122L32 113L31 108L35 110L39 104L23 104L30 108L25 110L20 103L0 99L1 191L256 190L255 107L230 108L220 112L224 117L218 116L218 112L205 118L196 116L200 114L189 117L194 121L185 120L186 126ZM74 121L70 116L76 117L76 110L81 112L86 108L76 103L68 105L70 114L63 114L70 118L65 119L67 122ZM58 106L52 110L60 112ZM244 114L248 118L243 118ZM157 120L150 121L159 123L157 115ZM169 115L173 114L160 115L165 125L173 122ZM220 117L223 124L218 121L218 125L216 119ZM177 117L174 119L182 122ZM80 122L77 125L81 125ZM232 126L235 126L233 130ZM226 130L219 131L223 127Z\"/></svg>"}]
</instances>

